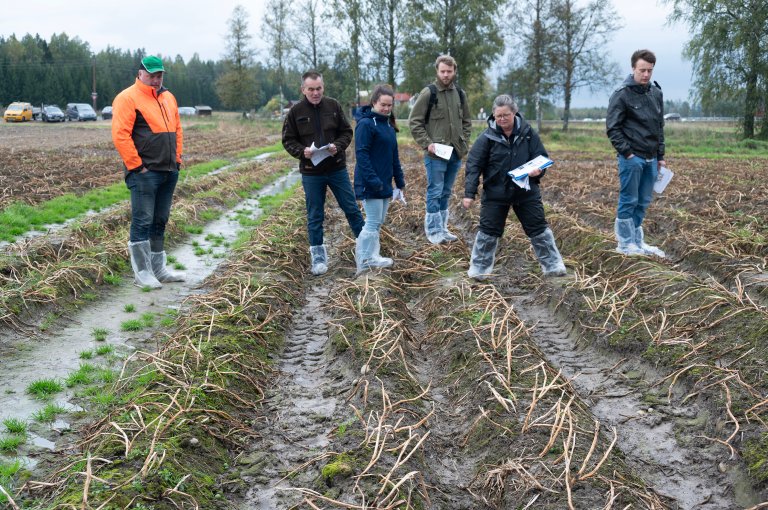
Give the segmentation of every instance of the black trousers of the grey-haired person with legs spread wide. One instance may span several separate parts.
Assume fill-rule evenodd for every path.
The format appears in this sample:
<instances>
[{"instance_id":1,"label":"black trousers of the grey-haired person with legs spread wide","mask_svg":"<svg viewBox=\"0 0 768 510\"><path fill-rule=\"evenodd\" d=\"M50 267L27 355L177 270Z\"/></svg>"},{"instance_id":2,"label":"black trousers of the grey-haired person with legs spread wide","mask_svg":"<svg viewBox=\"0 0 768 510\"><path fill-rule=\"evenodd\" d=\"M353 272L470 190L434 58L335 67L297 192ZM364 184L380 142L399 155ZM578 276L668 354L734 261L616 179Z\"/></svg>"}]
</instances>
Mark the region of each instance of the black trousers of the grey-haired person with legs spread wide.
<instances>
[{"instance_id":1,"label":"black trousers of the grey-haired person with legs spread wide","mask_svg":"<svg viewBox=\"0 0 768 510\"><path fill-rule=\"evenodd\" d=\"M522 188L508 189L504 195L506 196L483 191L480 204L480 230L484 234L501 237L510 207L515 211L528 237L541 234L549 226L544 217L544 204L541 201L538 184L531 184L530 191Z\"/></svg>"}]
</instances>

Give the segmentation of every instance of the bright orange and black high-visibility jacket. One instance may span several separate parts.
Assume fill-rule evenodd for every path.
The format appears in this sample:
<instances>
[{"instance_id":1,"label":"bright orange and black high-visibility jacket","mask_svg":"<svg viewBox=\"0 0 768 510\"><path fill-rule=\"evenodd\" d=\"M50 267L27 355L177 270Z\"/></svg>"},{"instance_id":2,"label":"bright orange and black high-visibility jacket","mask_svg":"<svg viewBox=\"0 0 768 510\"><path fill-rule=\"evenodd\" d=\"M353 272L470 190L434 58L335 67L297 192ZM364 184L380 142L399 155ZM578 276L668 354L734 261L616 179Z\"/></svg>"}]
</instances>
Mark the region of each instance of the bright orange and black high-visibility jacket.
<instances>
[{"instance_id":1,"label":"bright orange and black high-visibility jacket","mask_svg":"<svg viewBox=\"0 0 768 510\"><path fill-rule=\"evenodd\" d=\"M137 78L112 102L112 141L129 172L178 170L183 135L176 98Z\"/></svg>"}]
</instances>

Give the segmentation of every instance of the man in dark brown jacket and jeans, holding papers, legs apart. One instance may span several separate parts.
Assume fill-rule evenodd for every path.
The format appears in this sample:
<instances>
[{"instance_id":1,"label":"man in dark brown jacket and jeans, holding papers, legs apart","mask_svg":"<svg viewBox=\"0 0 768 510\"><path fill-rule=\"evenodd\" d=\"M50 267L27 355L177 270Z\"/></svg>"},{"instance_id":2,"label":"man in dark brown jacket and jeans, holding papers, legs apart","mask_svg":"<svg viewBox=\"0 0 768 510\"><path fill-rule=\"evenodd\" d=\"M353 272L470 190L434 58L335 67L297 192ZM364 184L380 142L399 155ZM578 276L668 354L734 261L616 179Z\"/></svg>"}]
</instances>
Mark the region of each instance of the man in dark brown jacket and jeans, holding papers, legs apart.
<instances>
[{"instance_id":1,"label":"man in dark brown jacket and jeans, holding papers, legs apart","mask_svg":"<svg viewBox=\"0 0 768 510\"><path fill-rule=\"evenodd\" d=\"M345 151L352 142L352 127L339 102L323 96L323 76L319 72L304 73L301 92L304 99L293 105L283 123L283 147L299 160L307 204L312 274L319 275L328 271L328 255L323 241L326 190L331 188L355 238L365 221L355 202L347 173ZM325 157L316 157L313 162L313 155Z\"/></svg>"}]
</instances>

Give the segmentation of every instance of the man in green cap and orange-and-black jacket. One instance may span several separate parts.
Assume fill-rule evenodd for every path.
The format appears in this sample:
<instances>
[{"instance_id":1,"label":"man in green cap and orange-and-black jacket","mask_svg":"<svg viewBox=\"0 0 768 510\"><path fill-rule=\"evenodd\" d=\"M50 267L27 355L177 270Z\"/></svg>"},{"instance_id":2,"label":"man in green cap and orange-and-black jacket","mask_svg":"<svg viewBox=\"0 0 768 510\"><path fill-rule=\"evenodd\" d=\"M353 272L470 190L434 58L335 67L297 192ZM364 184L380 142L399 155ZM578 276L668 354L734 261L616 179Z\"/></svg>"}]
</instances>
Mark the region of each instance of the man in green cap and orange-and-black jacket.
<instances>
[{"instance_id":1,"label":"man in green cap and orange-and-black jacket","mask_svg":"<svg viewBox=\"0 0 768 510\"><path fill-rule=\"evenodd\" d=\"M176 98L163 87L163 61L141 60L136 82L112 102L112 141L125 164L131 190L131 254L134 283L159 289L184 281L168 271L165 225L179 178L183 135Z\"/></svg>"}]
</instances>

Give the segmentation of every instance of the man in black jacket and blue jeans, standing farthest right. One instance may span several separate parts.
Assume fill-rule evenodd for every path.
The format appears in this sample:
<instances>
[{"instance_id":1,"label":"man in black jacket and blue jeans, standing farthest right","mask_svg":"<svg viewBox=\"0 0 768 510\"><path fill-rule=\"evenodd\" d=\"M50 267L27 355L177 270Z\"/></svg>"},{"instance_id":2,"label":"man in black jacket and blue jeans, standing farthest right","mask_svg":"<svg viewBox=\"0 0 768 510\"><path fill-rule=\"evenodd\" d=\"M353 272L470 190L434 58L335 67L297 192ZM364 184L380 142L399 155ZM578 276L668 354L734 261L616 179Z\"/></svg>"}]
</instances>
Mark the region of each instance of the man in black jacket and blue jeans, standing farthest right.
<instances>
[{"instance_id":1,"label":"man in black jacket and blue jeans, standing farthest right","mask_svg":"<svg viewBox=\"0 0 768 510\"><path fill-rule=\"evenodd\" d=\"M651 75L656 55L649 50L632 54L632 74L608 102L606 130L619 161L619 206L614 230L624 255L664 252L646 244L643 219L653 198L653 183L664 162L664 97Z\"/></svg>"}]
</instances>

